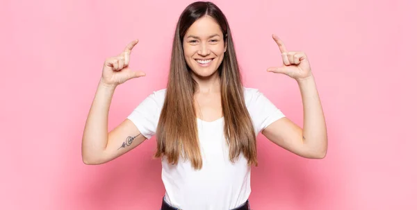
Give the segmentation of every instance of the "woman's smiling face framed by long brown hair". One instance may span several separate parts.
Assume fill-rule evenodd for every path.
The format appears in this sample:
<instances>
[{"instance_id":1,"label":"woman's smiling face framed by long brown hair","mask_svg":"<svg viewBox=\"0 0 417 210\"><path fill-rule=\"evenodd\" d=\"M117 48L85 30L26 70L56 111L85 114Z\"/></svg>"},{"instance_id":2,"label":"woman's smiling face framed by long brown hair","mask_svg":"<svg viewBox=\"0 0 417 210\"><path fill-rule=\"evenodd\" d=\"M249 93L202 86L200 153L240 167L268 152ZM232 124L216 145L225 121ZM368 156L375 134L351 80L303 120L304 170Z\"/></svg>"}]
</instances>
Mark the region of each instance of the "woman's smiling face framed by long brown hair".
<instances>
[{"instance_id":1,"label":"woman's smiling face framed by long brown hair","mask_svg":"<svg viewBox=\"0 0 417 210\"><path fill-rule=\"evenodd\" d=\"M219 24L208 15L197 19L183 38L186 63L199 77L208 77L217 71L226 49Z\"/></svg>"}]
</instances>

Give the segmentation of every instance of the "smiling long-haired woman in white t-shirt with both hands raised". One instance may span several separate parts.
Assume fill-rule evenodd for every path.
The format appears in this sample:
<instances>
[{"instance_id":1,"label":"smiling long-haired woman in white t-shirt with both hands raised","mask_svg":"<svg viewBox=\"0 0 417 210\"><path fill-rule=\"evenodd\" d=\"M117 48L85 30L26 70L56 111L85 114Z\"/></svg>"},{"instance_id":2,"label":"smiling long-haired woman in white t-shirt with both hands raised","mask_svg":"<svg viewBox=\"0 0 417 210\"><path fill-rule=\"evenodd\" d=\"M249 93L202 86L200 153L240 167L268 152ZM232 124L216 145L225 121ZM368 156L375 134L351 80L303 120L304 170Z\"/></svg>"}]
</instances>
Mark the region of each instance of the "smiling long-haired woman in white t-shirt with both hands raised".
<instances>
[{"instance_id":1,"label":"smiling long-haired woman in white t-shirt with both hands raised","mask_svg":"<svg viewBox=\"0 0 417 210\"><path fill-rule=\"evenodd\" d=\"M108 133L117 85L145 76L129 69L131 42L104 62L82 141L85 164L104 164L156 136L165 186L162 209L249 209L250 169L259 132L288 151L320 159L327 131L303 52L287 51L275 35L284 65L268 69L295 79L304 105L304 129L258 90L243 87L231 30L210 2L190 4L179 17L167 88L154 91Z\"/></svg>"}]
</instances>

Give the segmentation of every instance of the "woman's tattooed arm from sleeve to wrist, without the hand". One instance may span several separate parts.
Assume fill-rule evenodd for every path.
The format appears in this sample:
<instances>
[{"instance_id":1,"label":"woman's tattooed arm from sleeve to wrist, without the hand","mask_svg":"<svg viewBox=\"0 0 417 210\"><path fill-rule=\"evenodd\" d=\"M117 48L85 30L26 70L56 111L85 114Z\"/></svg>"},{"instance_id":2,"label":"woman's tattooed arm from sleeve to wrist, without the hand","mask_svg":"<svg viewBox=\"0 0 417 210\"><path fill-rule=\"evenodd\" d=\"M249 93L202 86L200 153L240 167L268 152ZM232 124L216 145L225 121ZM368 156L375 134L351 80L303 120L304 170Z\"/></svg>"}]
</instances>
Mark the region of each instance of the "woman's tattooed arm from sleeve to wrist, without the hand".
<instances>
[{"instance_id":1,"label":"woman's tattooed arm from sleeve to wrist, without the hand","mask_svg":"<svg viewBox=\"0 0 417 210\"><path fill-rule=\"evenodd\" d=\"M145 141L128 119L108 133L108 111L115 87L99 82L83 132L81 154L84 164L104 164Z\"/></svg>"}]
</instances>

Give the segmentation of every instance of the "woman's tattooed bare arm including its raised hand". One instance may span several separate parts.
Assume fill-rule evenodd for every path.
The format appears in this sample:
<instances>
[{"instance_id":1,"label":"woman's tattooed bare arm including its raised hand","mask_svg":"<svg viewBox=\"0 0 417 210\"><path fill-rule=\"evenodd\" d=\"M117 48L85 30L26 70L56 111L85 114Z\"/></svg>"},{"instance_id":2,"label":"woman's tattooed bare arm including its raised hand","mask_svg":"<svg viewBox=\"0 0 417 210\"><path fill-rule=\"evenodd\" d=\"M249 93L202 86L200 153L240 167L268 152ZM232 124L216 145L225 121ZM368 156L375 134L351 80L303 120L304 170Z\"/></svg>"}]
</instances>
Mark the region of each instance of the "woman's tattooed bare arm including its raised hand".
<instances>
[{"instance_id":1,"label":"woman's tattooed bare arm including its raised hand","mask_svg":"<svg viewBox=\"0 0 417 210\"><path fill-rule=\"evenodd\" d=\"M83 132L81 154L85 164L103 164L145 141L136 125L127 119L110 133L107 130L108 111L117 85L145 76L144 72L129 69L131 50L136 44L138 40L129 43L122 53L104 62L103 73Z\"/></svg>"}]
</instances>

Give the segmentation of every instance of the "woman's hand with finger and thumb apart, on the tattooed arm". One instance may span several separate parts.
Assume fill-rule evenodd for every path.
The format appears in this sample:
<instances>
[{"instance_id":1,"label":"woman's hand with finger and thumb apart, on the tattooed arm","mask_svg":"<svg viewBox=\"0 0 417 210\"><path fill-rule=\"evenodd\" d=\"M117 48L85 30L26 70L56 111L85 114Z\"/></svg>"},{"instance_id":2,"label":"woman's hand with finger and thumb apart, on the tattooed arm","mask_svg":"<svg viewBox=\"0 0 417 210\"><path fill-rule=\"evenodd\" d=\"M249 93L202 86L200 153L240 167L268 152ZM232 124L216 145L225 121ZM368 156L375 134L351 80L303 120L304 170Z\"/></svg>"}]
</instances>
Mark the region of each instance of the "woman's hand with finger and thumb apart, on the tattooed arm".
<instances>
[{"instance_id":1,"label":"woman's hand with finger and thumb apart, on the tattooed arm","mask_svg":"<svg viewBox=\"0 0 417 210\"><path fill-rule=\"evenodd\" d=\"M123 82L126 82L127 80L130 80L131 78L138 78L146 75L142 71L132 71L129 69L130 54L136 44L138 44L138 40L134 40L129 43L124 51L119 55L106 59L104 62L101 82L105 85L115 87Z\"/></svg>"}]
</instances>

